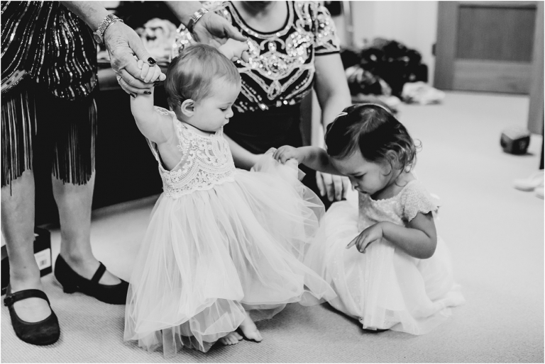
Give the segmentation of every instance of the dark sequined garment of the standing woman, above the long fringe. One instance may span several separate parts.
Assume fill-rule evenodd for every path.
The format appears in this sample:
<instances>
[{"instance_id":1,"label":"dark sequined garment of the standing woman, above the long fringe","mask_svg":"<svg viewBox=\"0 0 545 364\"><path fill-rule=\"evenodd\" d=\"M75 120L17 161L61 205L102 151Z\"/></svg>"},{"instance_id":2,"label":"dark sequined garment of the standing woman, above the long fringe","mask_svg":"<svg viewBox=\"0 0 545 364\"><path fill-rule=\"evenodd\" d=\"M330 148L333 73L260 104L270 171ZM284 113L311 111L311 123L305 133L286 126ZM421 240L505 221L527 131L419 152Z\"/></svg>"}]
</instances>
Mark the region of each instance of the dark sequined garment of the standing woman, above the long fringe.
<instances>
[{"instance_id":1,"label":"dark sequined garment of the standing woman, above the long fringe","mask_svg":"<svg viewBox=\"0 0 545 364\"><path fill-rule=\"evenodd\" d=\"M97 84L92 30L59 1L1 2L2 84L24 70L53 95L88 96Z\"/></svg>"}]
</instances>

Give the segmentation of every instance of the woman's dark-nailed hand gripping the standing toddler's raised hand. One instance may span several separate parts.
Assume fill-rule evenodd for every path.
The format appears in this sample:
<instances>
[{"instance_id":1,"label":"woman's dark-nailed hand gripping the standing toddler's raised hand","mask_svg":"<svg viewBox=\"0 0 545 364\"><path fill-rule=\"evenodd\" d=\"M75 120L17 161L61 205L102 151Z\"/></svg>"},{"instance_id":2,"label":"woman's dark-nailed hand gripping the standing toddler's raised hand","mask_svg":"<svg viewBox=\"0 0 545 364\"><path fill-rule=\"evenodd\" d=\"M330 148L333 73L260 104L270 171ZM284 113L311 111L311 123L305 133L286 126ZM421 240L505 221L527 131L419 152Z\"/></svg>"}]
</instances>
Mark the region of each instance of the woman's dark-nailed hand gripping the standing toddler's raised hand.
<instances>
[{"instance_id":1,"label":"woman's dark-nailed hand gripping the standing toddler's raised hand","mask_svg":"<svg viewBox=\"0 0 545 364\"><path fill-rule=\"evenodd\" d=\"M118 78L119 85L126 93L145 93L153 87L153 83L141 79L136 58L151 66L156 63L155 59L145 50L141 38L132 28L120 21L112 23L104 33L104 43L110 55L111 68L121 76L121 79ZM165 74L161 74L159 80L163 81L165 77Z\"/></svg>"}]
</instances>

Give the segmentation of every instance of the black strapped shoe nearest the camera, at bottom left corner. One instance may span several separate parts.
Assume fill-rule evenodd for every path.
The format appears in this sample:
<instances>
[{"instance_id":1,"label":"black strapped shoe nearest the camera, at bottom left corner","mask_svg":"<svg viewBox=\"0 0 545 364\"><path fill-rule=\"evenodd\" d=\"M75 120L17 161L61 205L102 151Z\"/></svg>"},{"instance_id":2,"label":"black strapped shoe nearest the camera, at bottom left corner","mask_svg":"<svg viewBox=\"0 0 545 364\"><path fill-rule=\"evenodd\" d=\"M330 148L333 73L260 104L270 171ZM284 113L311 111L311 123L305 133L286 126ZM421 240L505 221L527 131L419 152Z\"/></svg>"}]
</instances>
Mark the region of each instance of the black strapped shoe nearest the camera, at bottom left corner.
<instances>
[{"instance_id":1,"label":"black strapped shoe nearest the camera, at bottom left corner","mask_svg":"<svg viewBox=\"0 0 545 364\"><path fill-rule=\"evenodd\" d=\"M11 325L13 331L19 339L26 343L33 345L51 345L55 343L60 337L60 326L57 315L51 309L51 314L42 321L38 322L26 322L18 317L13 304L18 301L26 300L27 298L38 297L48 302L49 308L51 304L48 300L48 296L45 292L40 290L20 290L15 293L11 293L11 287L8 285L6 297L4 298L4 306L9 309L9 317L11 317Z\"/></svg>"}]
</instances>

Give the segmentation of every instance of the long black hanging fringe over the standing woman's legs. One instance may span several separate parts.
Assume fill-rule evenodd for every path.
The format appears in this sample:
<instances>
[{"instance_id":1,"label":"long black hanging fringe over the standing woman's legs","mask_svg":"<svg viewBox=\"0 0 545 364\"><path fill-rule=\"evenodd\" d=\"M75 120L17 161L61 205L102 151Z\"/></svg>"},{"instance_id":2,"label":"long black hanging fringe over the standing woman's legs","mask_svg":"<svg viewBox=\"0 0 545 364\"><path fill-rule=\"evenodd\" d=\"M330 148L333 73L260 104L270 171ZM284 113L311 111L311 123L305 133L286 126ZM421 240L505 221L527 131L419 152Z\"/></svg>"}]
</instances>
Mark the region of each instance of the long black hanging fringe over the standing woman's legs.
<instances>
[{"instance_id":1,"label":"long black hanging fringe over the standing woman's legs","mask_svg":"<svg viewBox=\"0 0 545 364\"><path fill-rule=\"evenodd\" d=\"M33 169L35 159L40 168L50 168L50 173L63 183L87 184L95 169L95 94L84 101L66 101L43 92L37 99L30 86L4 95L1 186L9 184L11 192L11 182ZM33 148L38 148L36 154Z\"/></svg>"}]
</instances>

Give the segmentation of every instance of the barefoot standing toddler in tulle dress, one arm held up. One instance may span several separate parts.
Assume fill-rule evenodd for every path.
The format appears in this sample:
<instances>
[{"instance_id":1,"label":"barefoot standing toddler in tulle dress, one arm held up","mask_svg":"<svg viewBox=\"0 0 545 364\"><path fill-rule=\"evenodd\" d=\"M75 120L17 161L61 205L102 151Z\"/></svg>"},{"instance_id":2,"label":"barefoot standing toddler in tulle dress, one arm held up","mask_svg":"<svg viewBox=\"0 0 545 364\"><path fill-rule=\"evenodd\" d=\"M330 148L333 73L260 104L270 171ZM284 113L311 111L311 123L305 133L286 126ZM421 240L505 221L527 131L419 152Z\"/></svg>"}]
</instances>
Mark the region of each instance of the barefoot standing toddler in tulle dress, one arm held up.
<instances>
[{"instance_id":1,"label":"barefoot standing toddler in tulle dress, one arm held up","mask_svg":"<svg viewBox=\"0 0 545 364\"><path fill-rule=\"evenodd\" d=\"M145 81L160 74L143 67ZM174 112L154 108L153 95L131 98L164 192L131 276L124 337L148 350L163 345L165 354L237 343L238 328L261 341L253 321L308 294L334 297L302 263L323 205L299 183L297 168L271 154L262 172L235 169L222 129L241 79L218 50L187 47L171 62L165 89Z\"/></svg>"}]
</instances>

